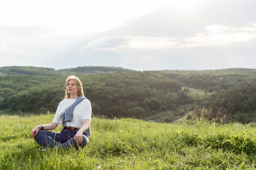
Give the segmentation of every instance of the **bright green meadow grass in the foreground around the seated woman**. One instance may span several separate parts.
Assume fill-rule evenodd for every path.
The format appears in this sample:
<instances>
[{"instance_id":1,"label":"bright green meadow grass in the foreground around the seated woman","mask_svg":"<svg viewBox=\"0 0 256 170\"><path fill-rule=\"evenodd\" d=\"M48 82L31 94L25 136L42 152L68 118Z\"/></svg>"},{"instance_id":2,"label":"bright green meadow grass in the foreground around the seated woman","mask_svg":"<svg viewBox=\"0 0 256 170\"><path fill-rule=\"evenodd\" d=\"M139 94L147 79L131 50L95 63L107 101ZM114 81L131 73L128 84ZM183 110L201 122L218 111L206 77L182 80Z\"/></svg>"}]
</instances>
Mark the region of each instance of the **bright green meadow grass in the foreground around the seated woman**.
<instances>
[{"instance_id":1,"label":"bright green meadow grass in the foreground around the seated woman","mask_svg":"<svg viewBox=\"0 0 256 170\"><path fill-rule=\"evenodd\" d=\"M92 119L85 148L42 151L31 139L36 124L54 115L0 116L1 170L255 169L255 126L205 119L160 124L137 119ZM57 130L60 130L58 127Z\"/></svg>"}]
</instances>

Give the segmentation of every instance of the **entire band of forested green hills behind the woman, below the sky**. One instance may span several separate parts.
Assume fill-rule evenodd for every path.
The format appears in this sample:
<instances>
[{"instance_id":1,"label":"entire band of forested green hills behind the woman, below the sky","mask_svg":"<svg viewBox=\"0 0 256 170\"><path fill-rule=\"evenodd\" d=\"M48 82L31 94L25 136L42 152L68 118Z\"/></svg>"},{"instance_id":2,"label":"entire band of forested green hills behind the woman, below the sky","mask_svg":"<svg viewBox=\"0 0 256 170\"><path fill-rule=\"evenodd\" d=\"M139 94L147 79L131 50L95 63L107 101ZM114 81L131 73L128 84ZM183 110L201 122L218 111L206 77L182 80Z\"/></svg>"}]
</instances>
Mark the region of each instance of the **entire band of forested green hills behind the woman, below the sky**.
<instances>
[{"instance_id":1,"label":"entire band of forested green hills behind the woman, below the sky","mask_svg":"<svg viewBox=\"0 0 256 170\"><path fill-rule=\"evenodd\" d=\"M178 122L256 122L256 69L133 71L121 67L0 67L0 114L55 113L76 75L93 116Z\"/></svg>"}]
</instances>

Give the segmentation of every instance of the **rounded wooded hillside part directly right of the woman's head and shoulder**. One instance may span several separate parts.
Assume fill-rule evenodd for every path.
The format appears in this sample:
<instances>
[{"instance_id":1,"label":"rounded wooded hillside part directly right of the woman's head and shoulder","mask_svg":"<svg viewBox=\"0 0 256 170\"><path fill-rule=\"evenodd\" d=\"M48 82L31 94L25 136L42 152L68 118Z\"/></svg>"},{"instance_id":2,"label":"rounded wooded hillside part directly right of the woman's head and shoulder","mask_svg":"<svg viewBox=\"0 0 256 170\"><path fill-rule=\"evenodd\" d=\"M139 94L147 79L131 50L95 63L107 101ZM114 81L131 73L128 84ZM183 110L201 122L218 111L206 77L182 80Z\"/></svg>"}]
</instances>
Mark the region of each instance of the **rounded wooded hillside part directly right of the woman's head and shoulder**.
<instances>
[{"instance_id":1,"label":"rounded wooded hillside part directly right of the woman's head and shoulder","mask_svg":"<svg viewBox=\"0 0 256 170\"><path fill-rule=\"evenodd\" d=\"M89 80L90 78L90 80ZM80 78L86 96L99 106L102 115L111 117L141 117L132 112L141 107L151 111L161 109L166 93L181 90L178 82L151 73L93 75ZM147 105L148 100L154 106ZM166 106L168 107L168 106ZM98 109L99 110L99 109Z\"/></svg>"}]
</instances>

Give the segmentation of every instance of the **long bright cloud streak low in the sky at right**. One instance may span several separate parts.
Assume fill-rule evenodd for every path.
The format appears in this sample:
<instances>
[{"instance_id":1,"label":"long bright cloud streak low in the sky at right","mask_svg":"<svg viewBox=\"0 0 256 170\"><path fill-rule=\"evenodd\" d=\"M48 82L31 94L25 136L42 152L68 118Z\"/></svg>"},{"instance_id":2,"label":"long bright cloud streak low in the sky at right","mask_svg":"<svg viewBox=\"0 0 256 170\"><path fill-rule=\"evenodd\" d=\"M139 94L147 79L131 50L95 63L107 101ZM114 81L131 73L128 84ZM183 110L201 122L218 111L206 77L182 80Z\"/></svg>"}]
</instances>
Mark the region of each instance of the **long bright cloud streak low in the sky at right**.
<instances>
[{"instance_id":1,"label":"long bright cloud streak low in the sky at right","mask_svg":"<svg viewBox=\"0 0 256 170\"><path fill-rule=\"evenodd\" d=\"M224 25L210 25L205 28L204 32L187 38L119 36L91 40L84 48L120 52L128 51L129 49L184 49L196 46L226 46L255 38L256 24L236 28Z\"/></svg>"}]
</instances>

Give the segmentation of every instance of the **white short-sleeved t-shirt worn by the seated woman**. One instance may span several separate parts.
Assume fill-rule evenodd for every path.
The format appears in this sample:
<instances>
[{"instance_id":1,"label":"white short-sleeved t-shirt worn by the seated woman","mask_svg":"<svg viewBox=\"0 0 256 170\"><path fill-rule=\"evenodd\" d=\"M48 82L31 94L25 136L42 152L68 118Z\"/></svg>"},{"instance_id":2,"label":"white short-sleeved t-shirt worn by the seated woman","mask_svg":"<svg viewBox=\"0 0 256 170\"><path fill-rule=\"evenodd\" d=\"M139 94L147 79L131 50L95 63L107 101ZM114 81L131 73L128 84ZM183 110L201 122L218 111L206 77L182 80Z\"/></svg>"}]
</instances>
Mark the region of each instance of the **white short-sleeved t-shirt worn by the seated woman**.
<instances>
[{"instance_id":1,"label":"white short-sleeved t-shirt worn by the seated woman","mask_svg":"<svg viewBox=\"0 0 256 170\"><path fill-rule=\"evenodd\" d=\"M76 101L76 99L64 99L57 107L54 119L52 122L61 124L61 114L65 112L65 108L70 106ZM67 121L67 127L81 128L83 126L83 120L88 119L91 121L92 117L92 106L88 99L84 99L75 106L72 114L72 121Z\"/></svg>"}]
</instances>

